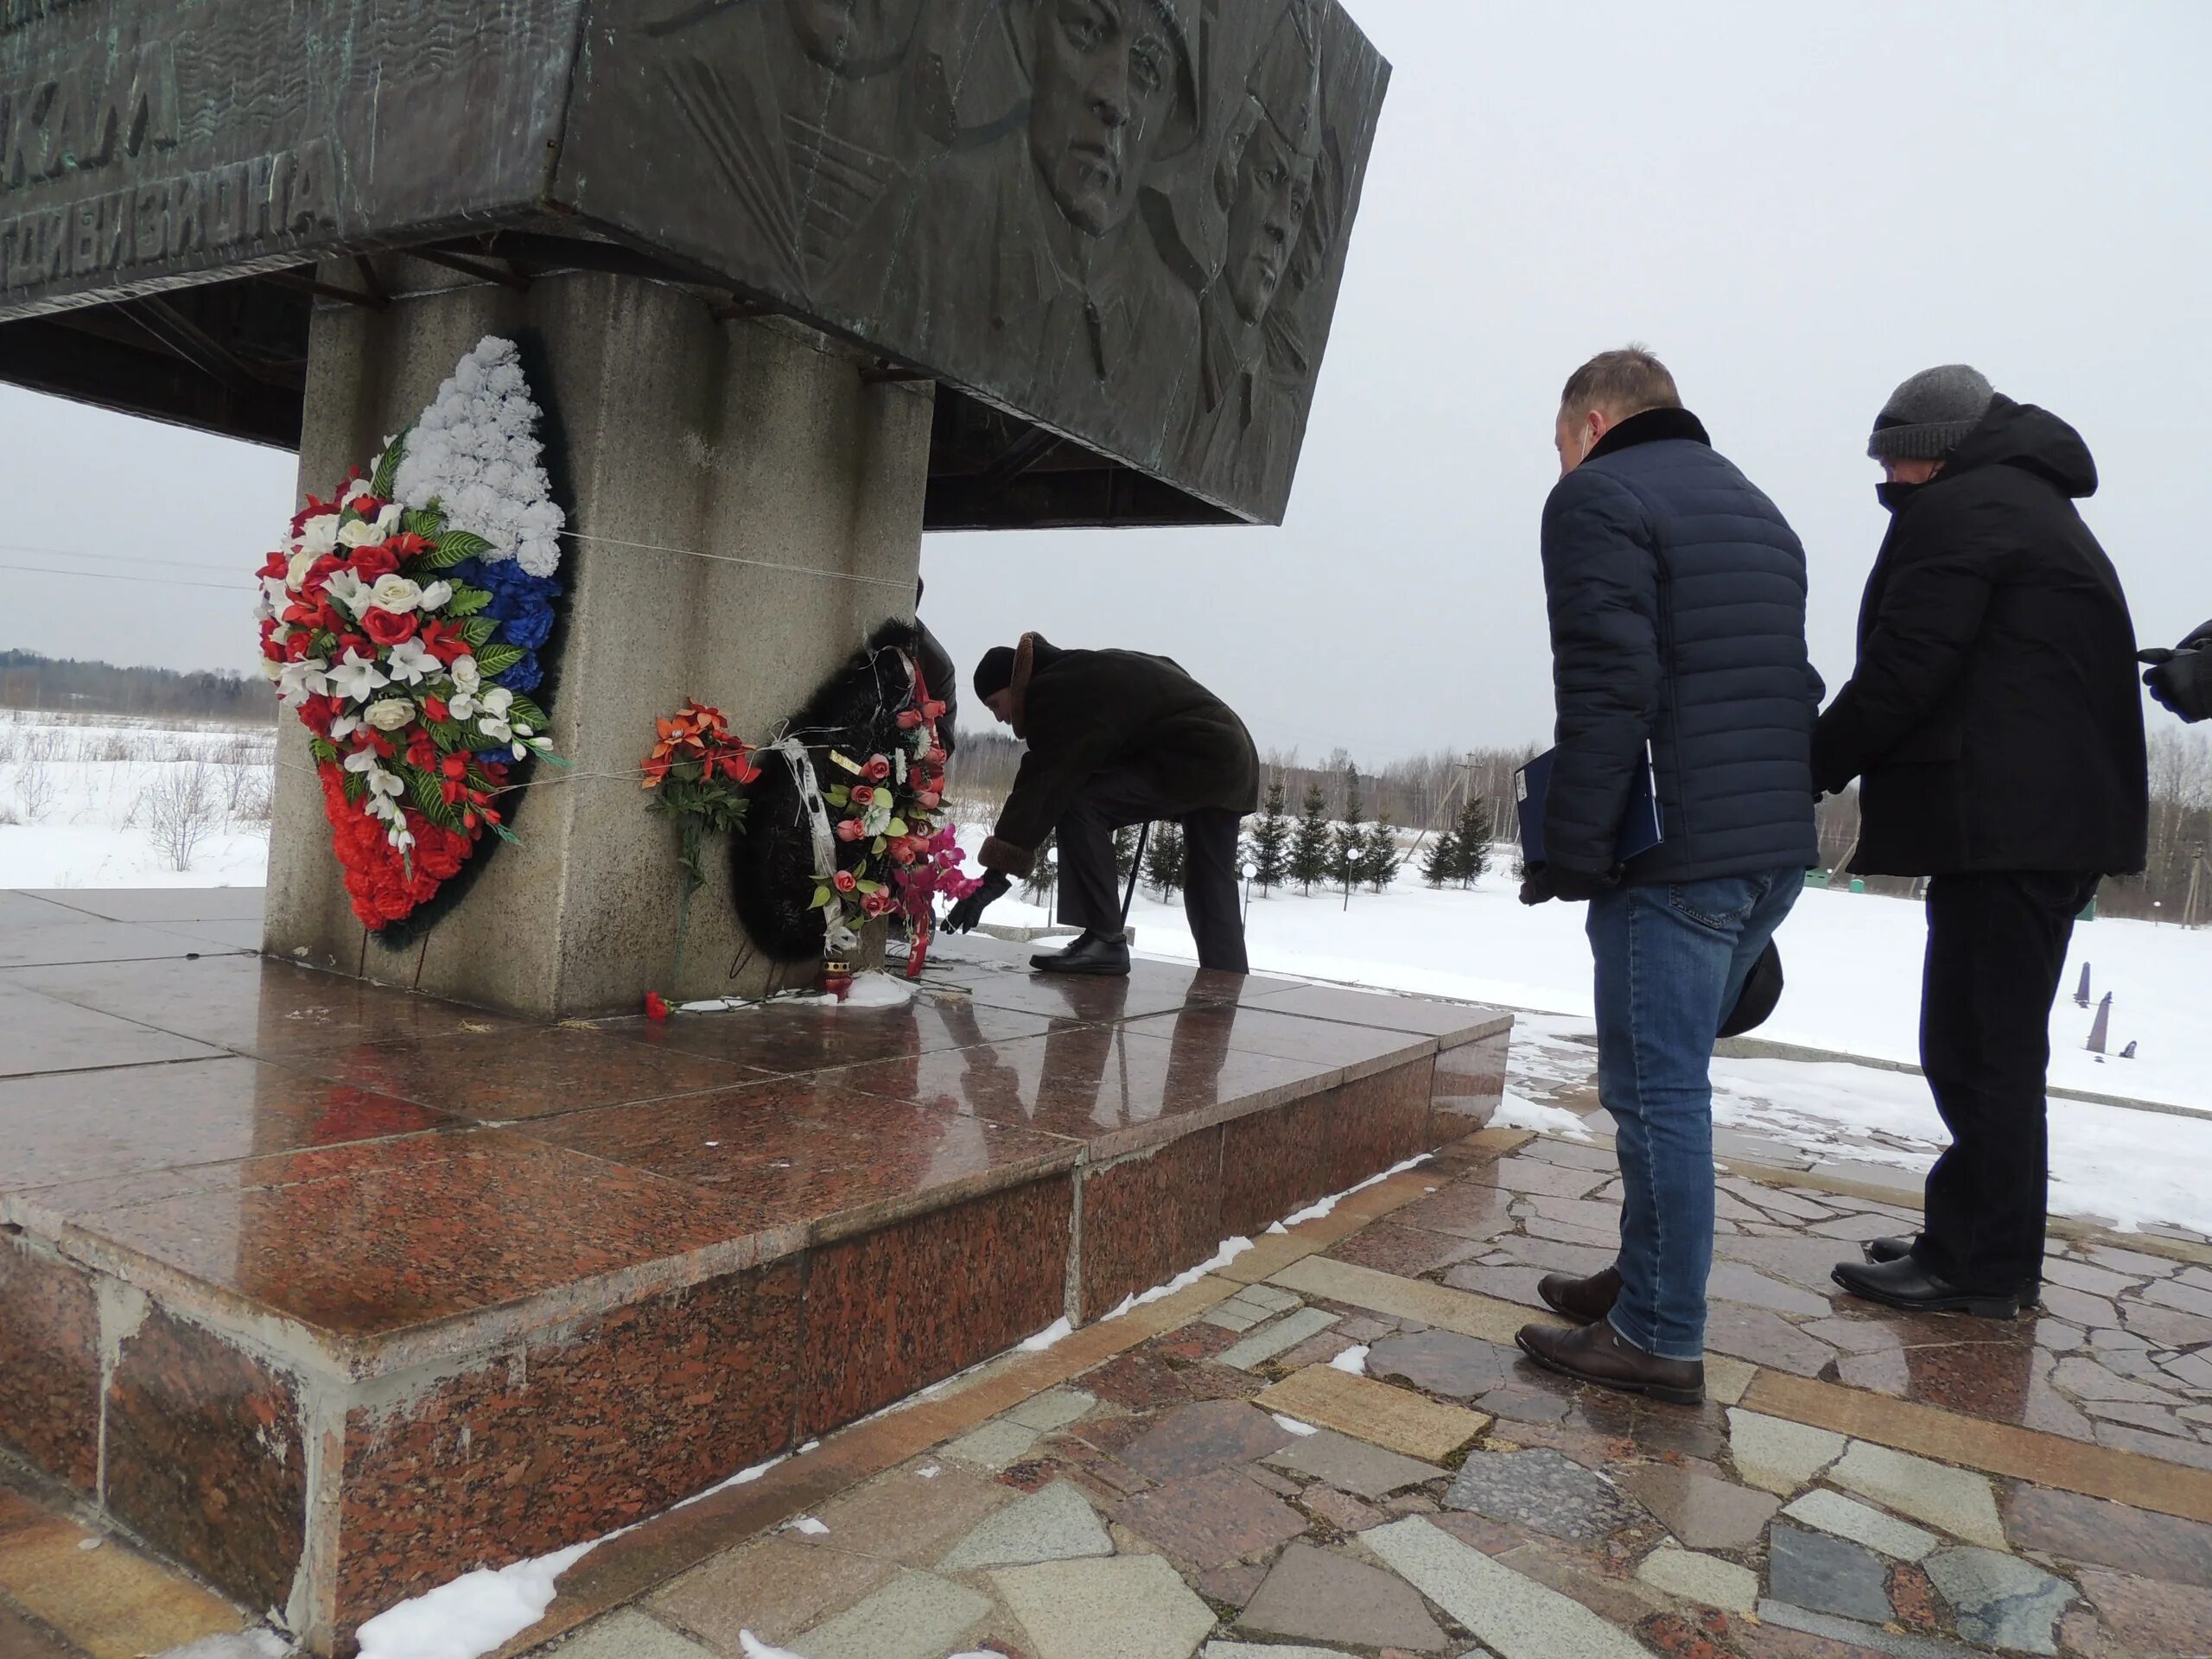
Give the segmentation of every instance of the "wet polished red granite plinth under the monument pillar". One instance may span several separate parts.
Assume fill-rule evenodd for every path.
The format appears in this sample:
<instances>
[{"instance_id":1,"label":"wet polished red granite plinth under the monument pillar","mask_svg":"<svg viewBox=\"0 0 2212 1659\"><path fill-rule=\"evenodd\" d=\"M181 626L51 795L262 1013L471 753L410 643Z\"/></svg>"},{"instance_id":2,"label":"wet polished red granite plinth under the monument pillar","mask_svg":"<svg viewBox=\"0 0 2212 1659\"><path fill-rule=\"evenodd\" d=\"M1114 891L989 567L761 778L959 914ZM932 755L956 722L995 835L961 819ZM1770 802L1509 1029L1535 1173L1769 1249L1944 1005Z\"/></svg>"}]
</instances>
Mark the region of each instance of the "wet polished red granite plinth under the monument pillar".
<instances>
[{"instance_id":1,"label":"wet polished red granite plinth under the monument pillar","mask_svg":"<svg viewBox=\"0 0 2212 1659\"><path fill-rule=\"evenodd\" d=\"M1511 1020L987 940L533 1026L0 894L0 1442L319 1648L1086 1323L1495 1110Z\"/></svg>"}]
</instances>

